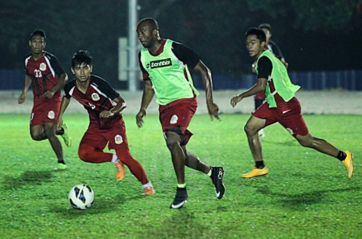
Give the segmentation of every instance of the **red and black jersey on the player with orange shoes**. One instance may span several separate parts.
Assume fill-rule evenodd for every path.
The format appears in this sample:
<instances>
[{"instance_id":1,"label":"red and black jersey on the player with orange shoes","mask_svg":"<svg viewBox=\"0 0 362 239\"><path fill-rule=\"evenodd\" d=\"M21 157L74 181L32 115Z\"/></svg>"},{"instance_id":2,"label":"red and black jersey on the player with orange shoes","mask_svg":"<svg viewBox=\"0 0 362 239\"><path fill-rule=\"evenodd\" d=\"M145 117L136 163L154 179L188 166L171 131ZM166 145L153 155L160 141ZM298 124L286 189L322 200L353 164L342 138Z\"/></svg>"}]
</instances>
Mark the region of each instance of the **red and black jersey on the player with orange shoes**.
<instances>
[{"instance_id":1,"label":"red and black jersey on the player with orange shoes","mask_svg":"<svg viewBox=\"0 0 362 239\"><path fill-rule=\"evenodd\" d=\"M102 111L110 110L116 105L113 100L119 96L118 92L99 76L90 75L89 86L85 94L78 89L76 80L72 80L64 86L64 96L73 97L84 106L89 114L90 126L108 129L122 119L121 113L109 118L99 117Z\"/></svg>"}]
</instances>

